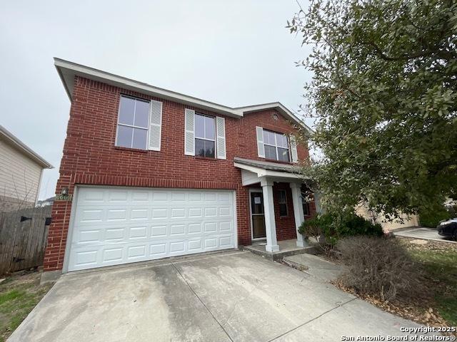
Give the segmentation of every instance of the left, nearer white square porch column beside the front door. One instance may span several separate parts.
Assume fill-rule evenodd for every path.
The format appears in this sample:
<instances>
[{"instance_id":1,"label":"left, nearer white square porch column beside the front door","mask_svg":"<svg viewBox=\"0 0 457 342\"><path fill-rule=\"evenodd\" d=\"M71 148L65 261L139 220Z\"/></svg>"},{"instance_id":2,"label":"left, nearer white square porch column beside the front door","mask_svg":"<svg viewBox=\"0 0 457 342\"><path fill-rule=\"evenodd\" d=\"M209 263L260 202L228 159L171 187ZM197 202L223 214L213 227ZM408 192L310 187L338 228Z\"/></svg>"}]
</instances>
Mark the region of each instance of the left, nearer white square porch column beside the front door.
<instances>
[{"instance_id":1,"label":"left, nearer white square porch column beside the front door","mask_svg":"<svg viewBox=\"0 0 457 342\"><path fill-rule=\"evenodd\" d=\"M278 252L279 246L278 240L276 239L276 222L274 219L273 181L263 177L261 178L260 184L263 192L263 211L265 212L265 250L267 252Z\"/></svg>"}]
</instances>

